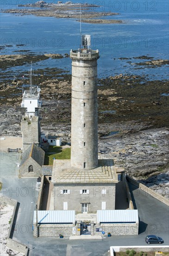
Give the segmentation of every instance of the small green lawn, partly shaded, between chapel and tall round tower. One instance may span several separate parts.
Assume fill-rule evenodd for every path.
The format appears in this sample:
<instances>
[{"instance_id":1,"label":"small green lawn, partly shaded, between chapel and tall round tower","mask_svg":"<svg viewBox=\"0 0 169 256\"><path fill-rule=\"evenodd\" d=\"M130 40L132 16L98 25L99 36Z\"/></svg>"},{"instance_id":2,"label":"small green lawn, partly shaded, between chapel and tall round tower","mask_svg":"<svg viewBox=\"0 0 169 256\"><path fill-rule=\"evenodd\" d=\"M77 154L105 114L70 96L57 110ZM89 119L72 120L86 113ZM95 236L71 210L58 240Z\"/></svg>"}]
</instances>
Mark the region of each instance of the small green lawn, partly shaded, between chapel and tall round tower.
<instances>
[{"instance_id":1,"label":"small green lawn, partly shaded, between chapel and tall round tower","mask_svg":"<svg viewBox=\"0 0 169 256\"><path fill-rule=\"evenodd\" d=\"M49 154L49 152L56 152L54 154ZM51 147L49 152L45 153L44 165L53 165L53 158L55 159L70 159L70 148L62 147Z\"/></svg>"}]
</instances>

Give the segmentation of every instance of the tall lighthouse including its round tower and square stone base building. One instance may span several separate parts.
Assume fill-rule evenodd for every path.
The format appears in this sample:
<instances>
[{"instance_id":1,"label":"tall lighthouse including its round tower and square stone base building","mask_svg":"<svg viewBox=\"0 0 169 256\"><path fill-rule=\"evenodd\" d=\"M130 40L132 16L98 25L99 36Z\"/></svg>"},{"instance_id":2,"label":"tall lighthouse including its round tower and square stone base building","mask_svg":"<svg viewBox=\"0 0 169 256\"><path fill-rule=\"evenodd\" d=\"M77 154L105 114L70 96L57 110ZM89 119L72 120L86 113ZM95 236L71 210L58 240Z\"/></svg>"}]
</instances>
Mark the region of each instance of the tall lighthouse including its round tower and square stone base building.
<instances>
[{"instance_id":1,"label":"tall lighthouse including its round tower and square stone base building","mask_svg":"<svg viewBox=\"0 0 169 256\"><path fill-rule=\"evenodd\" d=\"M70 51L71 159L53 161L51 182L57 193L50 205L51 209L75 210L75 213L80 215L96 213L98 209L115 209L115 187L118 182L113 160L98 159L99 51L90 49L90 35L82 35L81 45L78 50ZM87 220L88 216L85 216L85 219Z\"/></svg>"}]
</instances>

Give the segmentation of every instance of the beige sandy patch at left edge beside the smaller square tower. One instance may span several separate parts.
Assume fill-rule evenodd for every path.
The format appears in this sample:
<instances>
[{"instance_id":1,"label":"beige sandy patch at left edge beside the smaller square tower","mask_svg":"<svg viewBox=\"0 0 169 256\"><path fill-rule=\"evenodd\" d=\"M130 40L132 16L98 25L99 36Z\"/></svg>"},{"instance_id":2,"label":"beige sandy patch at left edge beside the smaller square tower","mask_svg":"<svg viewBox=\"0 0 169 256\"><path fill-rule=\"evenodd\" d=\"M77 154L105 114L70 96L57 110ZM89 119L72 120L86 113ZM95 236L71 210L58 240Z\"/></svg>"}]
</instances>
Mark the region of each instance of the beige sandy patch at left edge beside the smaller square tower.
<instances>
[{"instance_id":1,"label":"beige sandy patch at left edge beside the smaller square tower","mask_svg":"<svg viewBox=\"0 0 169 256\"><path fill-rule=\"evenodd\" d=\"M0 150L22 148L21 137L0 137Z\"/></svg>"}]
</instances>

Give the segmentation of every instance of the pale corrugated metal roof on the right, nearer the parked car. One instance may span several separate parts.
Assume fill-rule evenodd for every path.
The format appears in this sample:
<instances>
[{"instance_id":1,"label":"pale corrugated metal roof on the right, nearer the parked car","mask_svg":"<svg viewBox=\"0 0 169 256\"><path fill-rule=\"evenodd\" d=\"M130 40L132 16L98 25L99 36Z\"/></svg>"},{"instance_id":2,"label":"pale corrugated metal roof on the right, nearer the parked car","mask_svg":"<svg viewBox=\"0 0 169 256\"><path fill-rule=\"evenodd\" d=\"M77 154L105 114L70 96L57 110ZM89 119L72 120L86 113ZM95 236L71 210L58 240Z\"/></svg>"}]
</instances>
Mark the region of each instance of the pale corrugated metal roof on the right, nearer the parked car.
<instances>
[{"instance_id":1,"label":"pale corrugated metal roof on the right, nearer the parked car","mask_svg":"<svg viewBox=\"0 0 169 256\"><path fill-rule=\"evenodd\" d=\"M138 210L97 210L97 222L138 222Z\"/></svg>"}]
</instances>

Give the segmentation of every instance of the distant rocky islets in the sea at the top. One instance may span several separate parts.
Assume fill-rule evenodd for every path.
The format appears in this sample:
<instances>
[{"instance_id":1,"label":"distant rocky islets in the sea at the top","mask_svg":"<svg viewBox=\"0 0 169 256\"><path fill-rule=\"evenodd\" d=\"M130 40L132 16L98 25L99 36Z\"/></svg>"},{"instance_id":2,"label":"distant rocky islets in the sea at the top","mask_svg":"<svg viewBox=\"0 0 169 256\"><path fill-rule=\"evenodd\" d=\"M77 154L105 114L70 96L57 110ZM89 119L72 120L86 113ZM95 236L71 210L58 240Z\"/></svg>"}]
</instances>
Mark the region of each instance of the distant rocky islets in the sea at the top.
<instances>
[{"instance_id":1,"label":"distant rocky islets in the sea at the top","mask_svg":"<svg viewBox=\"0 0 169 256\"><path fill-rule=\"evenodd\" d=\"M82 22L88 23L122 23L122 20L104 20L100 19L94 21L94 18L97 17L106 17L106 16L113 16L119 13L112 13L112 12L97 12L96 8L100 7L94 4L80 4L76 3L73 4L72 2L66 3L46 3L44 1L38 1L33 4L21 4L19 7L30 7L28 8L18 8L18 9L6 9L3 10L4 13L13 13L15 15L36 15L36 16L44 16L44 17L55 17L55 18L73 18L78 19L80 21L80 15ZM40 9L37 9L40 7ZM93 11L94 10L94 11Z\"/></svg>"}]
</instances>

